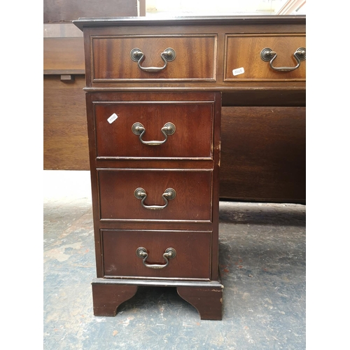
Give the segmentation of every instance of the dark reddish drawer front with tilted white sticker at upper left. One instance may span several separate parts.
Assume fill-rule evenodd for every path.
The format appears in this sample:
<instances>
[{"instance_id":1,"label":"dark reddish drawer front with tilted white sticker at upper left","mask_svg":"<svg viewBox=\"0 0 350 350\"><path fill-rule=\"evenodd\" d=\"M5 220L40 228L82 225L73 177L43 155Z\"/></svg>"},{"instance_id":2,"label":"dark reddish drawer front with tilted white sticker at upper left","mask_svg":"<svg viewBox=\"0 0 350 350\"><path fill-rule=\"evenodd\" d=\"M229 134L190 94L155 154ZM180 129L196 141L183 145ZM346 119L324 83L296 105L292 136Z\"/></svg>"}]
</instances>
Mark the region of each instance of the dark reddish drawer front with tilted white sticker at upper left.
<instances>
[{"instance_id":1,"label":"dark reddish drawer front with tilted white sticker at upper left","mask_svg":"<svg viewBox=\"0 0 350 350\"><path fill-rule=\"evenodd\" d=\"M109 123L116 114L118 118ZM212 158L214 102L102 102L94 104L97 158ZM146 130L142 141L165 141L162 128L175 126L164 144L144 144L132 126Z\"/></svg>"}]
</instances>

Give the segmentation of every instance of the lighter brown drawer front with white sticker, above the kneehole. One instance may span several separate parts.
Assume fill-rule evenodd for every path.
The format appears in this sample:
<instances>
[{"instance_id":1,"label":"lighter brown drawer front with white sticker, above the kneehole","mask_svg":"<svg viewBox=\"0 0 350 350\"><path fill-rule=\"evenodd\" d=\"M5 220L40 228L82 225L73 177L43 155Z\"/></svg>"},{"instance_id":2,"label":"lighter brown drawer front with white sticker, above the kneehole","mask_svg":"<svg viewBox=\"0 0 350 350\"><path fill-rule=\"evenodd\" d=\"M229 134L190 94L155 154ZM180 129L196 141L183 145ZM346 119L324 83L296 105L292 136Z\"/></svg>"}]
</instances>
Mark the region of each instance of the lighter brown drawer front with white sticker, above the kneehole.
<instances>
[{"instance_id":1,"label":"lighter brown drawer front with white sticker, above the kneehole","mask_svg":"<svg viewBox=\"0 0 350 350\"><path fill-rule=\"evenodd\" d=\"M306 61L300 61L294 71L275 71L260 57L260 52L270 48L277 57L272 66L295 67L294 53L306 48L304 34L228 35L226 36L225 81L235 80L305 80ZM243 68L244 73L233 75L232 70Z\"/></svg>"}]
</instances>

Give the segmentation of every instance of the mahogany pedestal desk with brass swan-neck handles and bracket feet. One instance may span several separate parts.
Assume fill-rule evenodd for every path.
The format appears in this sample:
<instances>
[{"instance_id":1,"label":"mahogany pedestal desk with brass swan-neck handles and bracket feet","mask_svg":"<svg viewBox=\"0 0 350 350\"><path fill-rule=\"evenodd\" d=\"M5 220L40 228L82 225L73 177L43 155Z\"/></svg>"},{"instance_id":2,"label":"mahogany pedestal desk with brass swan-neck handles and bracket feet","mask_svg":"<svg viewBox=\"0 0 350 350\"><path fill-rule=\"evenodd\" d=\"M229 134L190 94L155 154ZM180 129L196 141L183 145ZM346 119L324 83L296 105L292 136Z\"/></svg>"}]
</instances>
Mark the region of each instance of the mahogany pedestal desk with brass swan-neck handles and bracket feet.
<instances>
[{"instance_id":1,"label":"mahogany pedestal desk with brass swan-neck handles and bracket feet","mask_svg":"<svg viewBox=\"0 0 350 350\"><path fill-rule=\"evenodd\" d=\"M222 106L241 99L256 114L269 99L293 114L305 92L305 17L73 23L85 45L94 315L115 316L138 286L173 286L202 319L220 320Z\"/></svg>"}]
</instances>

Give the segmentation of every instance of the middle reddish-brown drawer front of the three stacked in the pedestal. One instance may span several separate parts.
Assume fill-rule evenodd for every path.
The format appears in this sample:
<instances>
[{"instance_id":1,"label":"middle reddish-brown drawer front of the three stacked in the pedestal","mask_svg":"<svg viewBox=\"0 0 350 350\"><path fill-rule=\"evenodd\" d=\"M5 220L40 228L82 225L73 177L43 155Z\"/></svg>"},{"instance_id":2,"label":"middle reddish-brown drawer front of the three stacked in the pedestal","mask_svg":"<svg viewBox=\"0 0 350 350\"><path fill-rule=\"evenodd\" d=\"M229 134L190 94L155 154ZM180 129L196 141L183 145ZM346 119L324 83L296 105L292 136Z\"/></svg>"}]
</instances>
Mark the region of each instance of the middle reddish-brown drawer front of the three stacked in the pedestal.
<instances>
[{"instance_id":1,"label":"middle reddish-brown drawer front of the three stacked in the pedestal","mask_svg":"<svg viewBox=\"0 0 350 350\"><path fill-rule=\"evenodd\" d=\"M123 221L211 221L212 172L158 169L99 169L100 218ZM146 209L134 191L143 188L144 205L164 206L168 188L176 197L164 209Z\"/></svg>"}]
</instances>

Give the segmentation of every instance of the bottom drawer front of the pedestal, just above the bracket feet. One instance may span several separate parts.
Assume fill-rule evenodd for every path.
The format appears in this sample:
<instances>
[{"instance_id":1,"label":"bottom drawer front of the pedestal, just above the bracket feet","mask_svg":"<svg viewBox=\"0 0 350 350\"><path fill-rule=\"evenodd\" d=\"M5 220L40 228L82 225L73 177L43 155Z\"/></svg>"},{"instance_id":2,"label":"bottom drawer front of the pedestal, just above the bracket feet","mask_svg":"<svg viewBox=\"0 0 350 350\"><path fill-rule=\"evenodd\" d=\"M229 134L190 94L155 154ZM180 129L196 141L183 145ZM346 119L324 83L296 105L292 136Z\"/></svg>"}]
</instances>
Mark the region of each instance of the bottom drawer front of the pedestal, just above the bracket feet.
<instances>
[{"instance_id":1,"label":"bottom drawer front of the pedestal, just above the bracket feet","mask_svg":"<svg viewBox=\"0 0 350 350\"><path fill-rule=\"evenodd\" d=\"M102 247L105 277L210 278L211 232L103 230ZM139 247L146 248L147 265L165 265L167 248L174 248L176 256L154 269L137 256Z\"/></svg>"}]
</instances>

